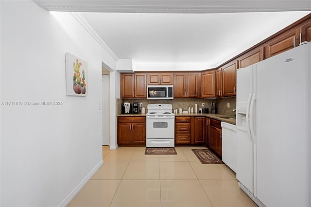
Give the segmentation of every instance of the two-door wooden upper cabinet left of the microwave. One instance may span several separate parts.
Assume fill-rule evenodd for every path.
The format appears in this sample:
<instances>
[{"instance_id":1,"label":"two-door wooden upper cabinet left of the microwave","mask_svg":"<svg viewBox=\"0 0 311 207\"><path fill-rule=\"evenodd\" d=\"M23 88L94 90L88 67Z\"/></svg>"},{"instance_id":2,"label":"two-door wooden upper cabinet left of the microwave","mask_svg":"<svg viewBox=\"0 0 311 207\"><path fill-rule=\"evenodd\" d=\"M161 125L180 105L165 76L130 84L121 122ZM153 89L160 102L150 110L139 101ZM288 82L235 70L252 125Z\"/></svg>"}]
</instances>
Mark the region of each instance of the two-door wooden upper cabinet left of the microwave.
<instances>
[{"instance_id":1,"label":"two-door wooden upper cabinet left of the microwave","mask_svg":"<svg viewBox=\"0 0 311 207\"><path fill-rule=\"evenodd\" d=\"M121 73L121 98L147 98L146 73Z\"/></svg>"}]
</instances>

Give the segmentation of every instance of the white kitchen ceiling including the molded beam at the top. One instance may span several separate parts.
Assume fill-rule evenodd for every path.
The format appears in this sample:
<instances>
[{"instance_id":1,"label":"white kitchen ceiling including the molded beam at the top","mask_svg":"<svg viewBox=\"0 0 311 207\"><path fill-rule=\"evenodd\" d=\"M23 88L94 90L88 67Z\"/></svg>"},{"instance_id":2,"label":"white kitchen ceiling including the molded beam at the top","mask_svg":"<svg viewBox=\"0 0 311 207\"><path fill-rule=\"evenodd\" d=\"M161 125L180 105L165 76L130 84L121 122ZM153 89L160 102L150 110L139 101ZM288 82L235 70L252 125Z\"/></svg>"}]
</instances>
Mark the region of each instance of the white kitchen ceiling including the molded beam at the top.
<instances>
[{"instance_id":1,"label":"white kitchen ceiling including the molded beam at the top","mask_svg":"<svg viewBox=\"0 0 311 207\"><path fill-rule=\"evenodd\" d=\"M136 71L215 68L311 11L310 0L35 2L79 12L73 16L116 59L132 59Z\"/></svg>"}]
</instances>

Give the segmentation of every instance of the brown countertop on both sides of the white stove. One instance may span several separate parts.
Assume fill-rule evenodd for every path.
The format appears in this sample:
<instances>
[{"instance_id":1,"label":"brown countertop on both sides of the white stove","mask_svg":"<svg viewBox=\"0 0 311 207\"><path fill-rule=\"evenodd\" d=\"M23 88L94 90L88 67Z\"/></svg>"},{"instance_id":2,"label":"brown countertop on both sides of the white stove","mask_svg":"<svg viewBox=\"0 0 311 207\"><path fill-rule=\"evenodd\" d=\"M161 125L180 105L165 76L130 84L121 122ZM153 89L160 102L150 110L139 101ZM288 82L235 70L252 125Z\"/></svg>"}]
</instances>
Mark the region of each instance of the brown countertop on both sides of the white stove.
<instances>
[{"instance_id":1,"label":"brown countertop on both sides of the white stove","mask_svg":"<svg viewBox=\"0 0 311 207\"><path fill-rule=\"evenodd\" d=\"M145 117L146 114L119 114L117 117ZM225 121L227 123L236 124L236 119L233 116L228 116L225 114L200 114L200 113L177 113L175 114L175 117L207 117L211 119L215 119L218 121Z\"/></svg>"}]
</instances>

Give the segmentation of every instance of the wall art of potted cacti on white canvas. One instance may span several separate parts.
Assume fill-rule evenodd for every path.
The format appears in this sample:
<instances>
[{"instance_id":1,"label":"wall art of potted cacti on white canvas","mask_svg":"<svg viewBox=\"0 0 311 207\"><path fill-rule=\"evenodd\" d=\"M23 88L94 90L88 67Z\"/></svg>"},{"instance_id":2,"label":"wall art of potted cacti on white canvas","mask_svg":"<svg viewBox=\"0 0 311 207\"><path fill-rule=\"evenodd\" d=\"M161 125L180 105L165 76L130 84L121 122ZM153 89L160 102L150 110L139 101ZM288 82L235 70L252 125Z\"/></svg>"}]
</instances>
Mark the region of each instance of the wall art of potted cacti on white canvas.
<instances>
[{"instance_id":1,"label":"wall art of potted cacti on white canvas","mask_svg":"<svg viewBox=\"0 0 311 207\"><path fill-rule=\"evenodd\" d=\"M87 62L66 52L66 91L69 96L87 96Z\"/></svg>"}]
</instances>

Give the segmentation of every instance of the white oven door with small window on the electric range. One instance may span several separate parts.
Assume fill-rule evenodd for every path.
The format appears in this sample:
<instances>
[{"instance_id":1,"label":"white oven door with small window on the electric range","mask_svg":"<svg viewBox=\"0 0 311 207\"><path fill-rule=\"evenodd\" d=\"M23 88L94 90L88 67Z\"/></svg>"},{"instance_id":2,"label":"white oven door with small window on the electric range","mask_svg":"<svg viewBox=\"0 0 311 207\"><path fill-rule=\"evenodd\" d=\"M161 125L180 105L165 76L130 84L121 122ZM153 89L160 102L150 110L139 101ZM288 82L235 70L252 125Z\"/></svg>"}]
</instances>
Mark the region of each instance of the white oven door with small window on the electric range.
<instances>
[{"instance_id":1,"label":"white oven door with small window on the electric range","mask_svg":"<svg viewBox=\"0 0 311 207\"><path fill-rule=\"evenodd\" d=\"M147 116L146 138L174 138L174 116Z\"/></svg>"}]
</instances>

